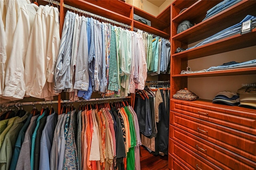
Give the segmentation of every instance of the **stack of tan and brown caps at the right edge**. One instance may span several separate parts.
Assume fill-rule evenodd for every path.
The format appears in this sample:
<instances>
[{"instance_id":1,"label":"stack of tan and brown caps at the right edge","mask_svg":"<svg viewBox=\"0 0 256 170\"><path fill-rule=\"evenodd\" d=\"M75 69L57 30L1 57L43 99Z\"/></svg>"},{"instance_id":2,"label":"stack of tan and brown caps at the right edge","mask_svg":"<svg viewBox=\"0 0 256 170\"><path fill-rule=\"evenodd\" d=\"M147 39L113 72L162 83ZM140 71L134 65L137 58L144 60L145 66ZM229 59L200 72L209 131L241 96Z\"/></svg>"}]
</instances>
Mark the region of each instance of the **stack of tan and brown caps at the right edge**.
<instances>
[{"instance_id":1,"label":"stack of tan and brown caps at the right edge","mask_svg":"<svg viewBox=\"0 0 256 170\"><path fill-rule=\"evenodd\" d=\"M240 95L239 106L256 109L256 83L245 84L237 93Z\"/></svg>"}]
</instances>

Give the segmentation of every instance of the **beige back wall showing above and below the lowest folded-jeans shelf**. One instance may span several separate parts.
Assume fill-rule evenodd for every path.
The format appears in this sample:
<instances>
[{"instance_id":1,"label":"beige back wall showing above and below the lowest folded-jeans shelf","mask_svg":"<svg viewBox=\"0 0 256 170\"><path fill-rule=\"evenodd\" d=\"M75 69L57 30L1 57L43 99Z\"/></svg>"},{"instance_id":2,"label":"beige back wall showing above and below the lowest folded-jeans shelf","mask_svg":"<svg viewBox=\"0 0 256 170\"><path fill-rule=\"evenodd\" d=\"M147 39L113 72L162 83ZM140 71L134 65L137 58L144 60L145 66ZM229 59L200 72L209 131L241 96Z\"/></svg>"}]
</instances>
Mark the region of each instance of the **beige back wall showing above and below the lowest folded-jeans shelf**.
<instances>
[{"instance_id":1,"label":"beige back wall showing above and below the lowest folded-jeans shelf","mask_svg":"<svg viewBox=\"0 0 256 170\"><path fill-rule=\"evenodd\" d=\"M256 59L256 46L220 53L188 61L192 71L208 69L222 65L229 61L244 62ZM256 75L234 75L220 77L188 78L188 89L196 93L200 99L212 100L214 96L224 90L237 92L242 84L256 83Z\"/></svg>"}]
</instances>

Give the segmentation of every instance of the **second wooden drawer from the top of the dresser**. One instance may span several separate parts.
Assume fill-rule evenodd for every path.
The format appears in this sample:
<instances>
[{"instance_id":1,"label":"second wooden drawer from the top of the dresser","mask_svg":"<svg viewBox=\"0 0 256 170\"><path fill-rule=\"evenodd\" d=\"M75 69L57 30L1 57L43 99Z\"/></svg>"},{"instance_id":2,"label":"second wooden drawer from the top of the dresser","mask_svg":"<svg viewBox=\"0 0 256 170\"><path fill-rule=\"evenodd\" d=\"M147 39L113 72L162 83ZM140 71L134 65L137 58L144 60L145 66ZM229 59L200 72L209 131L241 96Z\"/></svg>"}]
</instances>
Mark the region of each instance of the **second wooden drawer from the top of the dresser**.
<instances>
[{"instance_id":1,"label":"second wooden drawer from the top of the dresser","mask_svg":"<svg viewBox=\"0 0 256 170\"><path fill-rule=\"evenodd\" d=\"M170 123L200 138L256 162L256 136L170 112ZM171 130L169 130L171 132ZM171 136L171 133L169 134Z\"/></svg>"}]
</instances>

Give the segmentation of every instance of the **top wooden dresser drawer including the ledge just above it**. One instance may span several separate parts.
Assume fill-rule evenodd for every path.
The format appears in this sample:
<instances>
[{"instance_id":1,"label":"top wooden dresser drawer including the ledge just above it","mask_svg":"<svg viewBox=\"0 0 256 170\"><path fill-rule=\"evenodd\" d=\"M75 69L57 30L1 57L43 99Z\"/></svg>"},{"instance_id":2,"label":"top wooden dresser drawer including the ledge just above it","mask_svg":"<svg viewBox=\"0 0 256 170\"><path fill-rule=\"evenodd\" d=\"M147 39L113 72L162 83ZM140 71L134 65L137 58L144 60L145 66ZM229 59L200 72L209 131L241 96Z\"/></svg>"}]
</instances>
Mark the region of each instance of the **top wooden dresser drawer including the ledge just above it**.
<instances>
[{"instance_id":1,"label":"top wooden dresser drawer including the ledge just above it","mask_svg":"<svg viewBox=\"0 0 256 170\"><path fill-rule=\"evenodd\" d=\"M238 106L223 106L204 101L171 99L171 110L256 135L256 111L249 111L250 109L240 109Z\"/></svg>"}]
</instances>

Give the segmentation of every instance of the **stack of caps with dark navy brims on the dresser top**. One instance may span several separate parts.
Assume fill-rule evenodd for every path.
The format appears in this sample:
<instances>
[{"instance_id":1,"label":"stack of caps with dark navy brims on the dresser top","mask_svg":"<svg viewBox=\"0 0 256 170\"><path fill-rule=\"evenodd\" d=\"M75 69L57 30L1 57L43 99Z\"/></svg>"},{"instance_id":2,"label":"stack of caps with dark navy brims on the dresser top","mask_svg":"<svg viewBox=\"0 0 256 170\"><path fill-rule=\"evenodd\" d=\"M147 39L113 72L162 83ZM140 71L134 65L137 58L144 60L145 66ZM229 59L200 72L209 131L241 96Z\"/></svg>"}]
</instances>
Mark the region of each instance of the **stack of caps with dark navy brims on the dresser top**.
<instances>
[{"instance_id":1,"label":"stack of caps with dark navy brims on the dresser top","mask_svg":"<svg viewBox=\"0 0 256 170\"><path fill-rule=\"evenodd\" d=\"M225 90L218 93L212 103L236 106L239 105L239 96L233 91Z\"/></svg>"}]
</instances>

